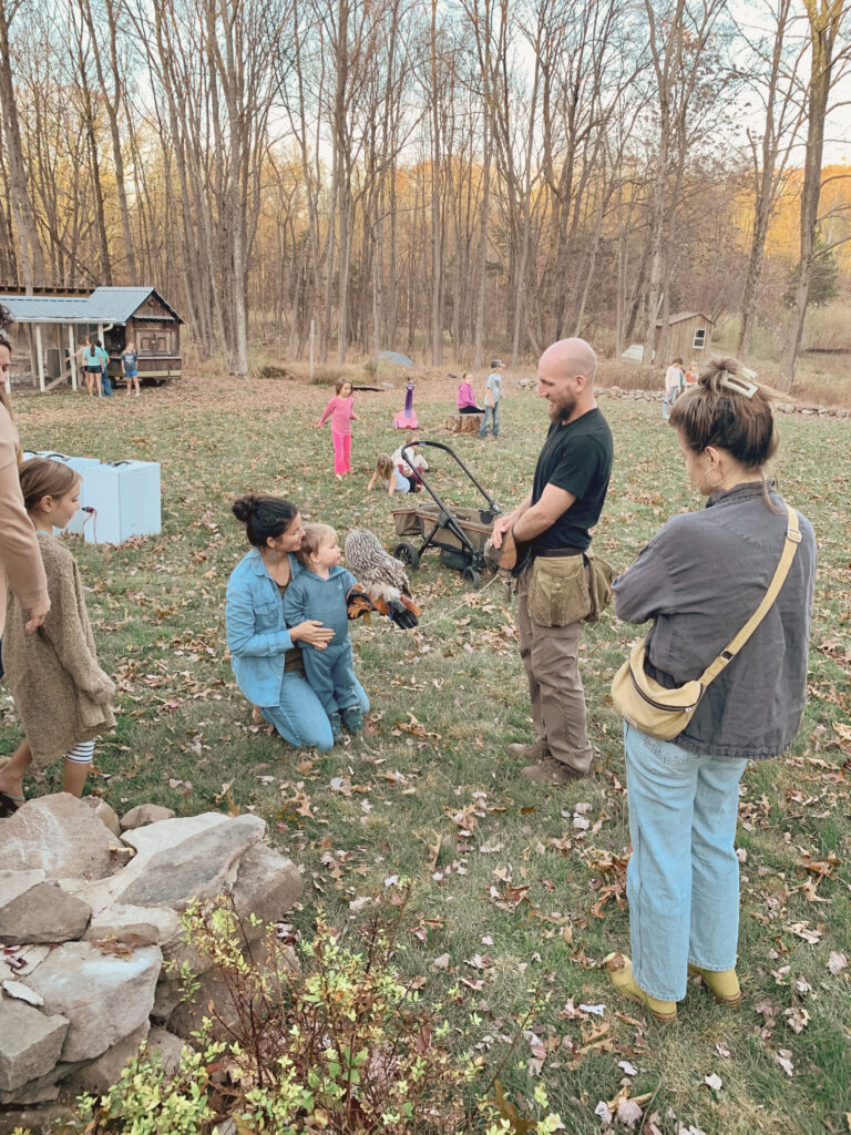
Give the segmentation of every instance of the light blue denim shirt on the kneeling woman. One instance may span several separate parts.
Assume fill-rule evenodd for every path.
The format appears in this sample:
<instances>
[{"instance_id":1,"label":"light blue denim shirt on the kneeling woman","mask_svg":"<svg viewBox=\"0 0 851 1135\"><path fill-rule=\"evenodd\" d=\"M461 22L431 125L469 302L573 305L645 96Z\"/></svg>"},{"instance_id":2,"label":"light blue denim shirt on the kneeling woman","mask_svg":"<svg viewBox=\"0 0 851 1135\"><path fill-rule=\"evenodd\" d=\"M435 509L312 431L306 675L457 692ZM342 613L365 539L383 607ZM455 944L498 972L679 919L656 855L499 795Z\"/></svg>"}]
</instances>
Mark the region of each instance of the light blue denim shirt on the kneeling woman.
<instances>
[{"instance_id":1,"label":"light blue denim shirt on the kneeling woman","mask_svg":"<svg viewBox=\"0 0 851 1135\"><path fill-rule=\"evenodd\" d=\"M295 579L303 568L294 555L289 569ZM236 684L256 706L280 703L280 682L286 653L293 648L284 621L284 600L256 548L234 568L225 599L230 665Z\"/></svg>"}]
</instances>

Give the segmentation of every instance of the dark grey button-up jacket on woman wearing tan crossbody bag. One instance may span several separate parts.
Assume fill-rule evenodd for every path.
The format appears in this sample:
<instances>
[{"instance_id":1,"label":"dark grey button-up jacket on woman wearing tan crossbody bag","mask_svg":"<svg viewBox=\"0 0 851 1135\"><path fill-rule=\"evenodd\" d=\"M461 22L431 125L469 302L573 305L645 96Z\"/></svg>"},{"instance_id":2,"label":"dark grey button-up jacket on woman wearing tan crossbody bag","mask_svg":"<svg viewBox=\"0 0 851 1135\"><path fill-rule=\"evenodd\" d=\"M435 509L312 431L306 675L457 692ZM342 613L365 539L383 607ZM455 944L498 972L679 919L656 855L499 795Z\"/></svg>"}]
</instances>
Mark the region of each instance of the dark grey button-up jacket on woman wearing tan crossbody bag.
<instances>
[{"instance_id":1,"label":"dark grey button-up jacket on woman wearing tan crossbody bag","mask_svg":"<svg viewBox=\"0 0 851 1135\"><path fill-rule=\"evenodd\" d=\"M662 686L699 678L759 606L787 524L769 487L777 512L761 481L714 493L702 512L673 516L615 580L617 615L654 620L646 670ZM812 526L798 515L801 543L780 595L675 739L690 753L761 759L783 753L798 733L816 575Z\"/></svg>"}]
</instances>

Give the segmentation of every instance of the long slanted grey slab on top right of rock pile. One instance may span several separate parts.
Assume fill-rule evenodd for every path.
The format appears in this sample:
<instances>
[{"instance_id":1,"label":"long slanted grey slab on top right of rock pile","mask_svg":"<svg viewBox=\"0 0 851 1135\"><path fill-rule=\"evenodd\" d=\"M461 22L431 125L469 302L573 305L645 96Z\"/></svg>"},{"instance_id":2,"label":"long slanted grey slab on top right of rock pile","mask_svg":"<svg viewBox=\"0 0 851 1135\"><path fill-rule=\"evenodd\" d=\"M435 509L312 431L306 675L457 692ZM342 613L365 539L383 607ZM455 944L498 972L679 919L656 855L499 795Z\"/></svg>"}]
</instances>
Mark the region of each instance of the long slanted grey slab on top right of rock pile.
<instances>
[{"instance_id":1,"label":"long slanted grey slab on top right of rock pile","mask_svg":"<svg viewBox=\"0 0 851 1135\"><path fill-rule=\"evenodd\" d=\"M120 874L95 883L62 883L95 911L115 902L184 910L193 898L229 891L241 856L264 831L266 823L252 815L212 812L162 819L124 833L121 839L137 854Z\"/></svg>"}]
</instances>

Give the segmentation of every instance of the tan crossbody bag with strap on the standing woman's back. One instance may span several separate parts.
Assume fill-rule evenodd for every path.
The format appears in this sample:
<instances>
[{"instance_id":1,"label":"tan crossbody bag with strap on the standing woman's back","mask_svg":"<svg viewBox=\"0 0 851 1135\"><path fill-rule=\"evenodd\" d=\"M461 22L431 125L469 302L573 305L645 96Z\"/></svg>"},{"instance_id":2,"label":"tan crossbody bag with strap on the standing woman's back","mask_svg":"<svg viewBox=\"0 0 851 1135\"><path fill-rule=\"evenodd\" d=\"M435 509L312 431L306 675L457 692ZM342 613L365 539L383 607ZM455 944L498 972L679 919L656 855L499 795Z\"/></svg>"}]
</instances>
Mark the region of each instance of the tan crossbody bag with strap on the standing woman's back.
<instances>
[{"instance_id":1,"label":"tan crossbody bag with strap on the standing woman's back","mask_svg":"<svg viewBox=\"0 0 851 1135\"><path fill-rule=\"evenodd\" d=\"M640 729L648 737L657 737L663 741L672 741L686 728L694 711L700 705L707 686L735 658L762 622L783 587L798 545L801 543L798 513L789 504L786 508L789 510L786 540L774 579L769 583L762 602L715 662L706 667L700 678L668 690L644 673L644 658L647 656L644 645L647 640L642 639L633 646L629 658L617 671L612 682L612 700L617 712L630 725Z\"/></svg>"}]
</instances>

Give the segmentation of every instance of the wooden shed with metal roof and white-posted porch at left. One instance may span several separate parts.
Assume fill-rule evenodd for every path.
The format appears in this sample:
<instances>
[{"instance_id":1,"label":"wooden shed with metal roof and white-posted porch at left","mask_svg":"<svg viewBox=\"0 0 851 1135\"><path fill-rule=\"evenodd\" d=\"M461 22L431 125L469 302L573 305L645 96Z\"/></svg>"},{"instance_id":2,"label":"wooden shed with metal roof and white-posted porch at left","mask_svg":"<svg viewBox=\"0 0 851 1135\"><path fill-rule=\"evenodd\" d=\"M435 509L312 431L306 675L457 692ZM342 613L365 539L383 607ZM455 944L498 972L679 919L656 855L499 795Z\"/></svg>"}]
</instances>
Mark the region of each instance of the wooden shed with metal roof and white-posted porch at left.
<instances>
[{"instance_id":1,"label":"wooden shed with metal roof and white-posted porch at left","mask_svg":"<svg viewBox=\"0 0 851 1135\"><path fill-rule=\"evenodd\" d=\"M41 390L77 389L79 348L95 335L109 352L109 375L121 376L121 352L133 340L141 381L180 377L183 320L152 287L2 288L0 303L26 331L27 348L12 355L15 381ZM22 335L17 336L18 342Z\"/></svg>"}]
</instances>

